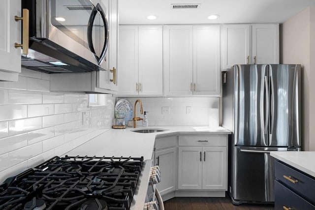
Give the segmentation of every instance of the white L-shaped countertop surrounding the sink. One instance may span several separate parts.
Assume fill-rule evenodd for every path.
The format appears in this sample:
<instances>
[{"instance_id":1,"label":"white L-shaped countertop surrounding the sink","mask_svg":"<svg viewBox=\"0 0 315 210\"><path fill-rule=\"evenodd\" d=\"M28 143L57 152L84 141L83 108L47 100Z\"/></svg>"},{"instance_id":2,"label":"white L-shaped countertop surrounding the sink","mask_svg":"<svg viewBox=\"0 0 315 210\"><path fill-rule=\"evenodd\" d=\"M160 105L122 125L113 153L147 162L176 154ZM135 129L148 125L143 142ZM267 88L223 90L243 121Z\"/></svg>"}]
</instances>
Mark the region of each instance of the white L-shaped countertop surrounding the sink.
<instances>
[{"instance_id":1,"label":"white L-shaped countertop surrounding the sink","mask_svg":"<svg viewBox=\"0 0 315 210\"><path fill-rule=\"evenodd\" d=\"M230 134L229 130L222 127L209 128L207 126L155 126L148 129L161 128L166 131L156 133L136 133L133 129L105 129L103 133L86 142L85 144L68 151L67 155L88 155L88 156L124 156L140 157L145 160L152 159L156 137L170 135L194 134ZM146 128L144 128L146 129Z\"/></svg>"}]
</instances>

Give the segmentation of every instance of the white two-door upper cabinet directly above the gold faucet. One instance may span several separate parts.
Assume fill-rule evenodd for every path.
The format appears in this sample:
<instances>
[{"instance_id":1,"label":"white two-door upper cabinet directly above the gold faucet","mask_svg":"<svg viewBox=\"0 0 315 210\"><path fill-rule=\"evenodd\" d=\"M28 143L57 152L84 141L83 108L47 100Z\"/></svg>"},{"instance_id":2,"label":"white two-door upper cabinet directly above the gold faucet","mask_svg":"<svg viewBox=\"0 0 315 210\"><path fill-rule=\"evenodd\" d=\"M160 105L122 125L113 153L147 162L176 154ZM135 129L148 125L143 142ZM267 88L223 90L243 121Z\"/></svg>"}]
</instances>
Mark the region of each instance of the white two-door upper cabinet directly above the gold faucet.
<instances>
[{"instance_id":1,"label":"white two-door upper cabinet directly above the gold faucet","mask_svg":"<svg viewBox=\"0 0 315 210\"><path fill-rule=\"evenodd\" d=\"M162 95L162 26L119 26L119 95Z\"/></svg>"}]
</instances>

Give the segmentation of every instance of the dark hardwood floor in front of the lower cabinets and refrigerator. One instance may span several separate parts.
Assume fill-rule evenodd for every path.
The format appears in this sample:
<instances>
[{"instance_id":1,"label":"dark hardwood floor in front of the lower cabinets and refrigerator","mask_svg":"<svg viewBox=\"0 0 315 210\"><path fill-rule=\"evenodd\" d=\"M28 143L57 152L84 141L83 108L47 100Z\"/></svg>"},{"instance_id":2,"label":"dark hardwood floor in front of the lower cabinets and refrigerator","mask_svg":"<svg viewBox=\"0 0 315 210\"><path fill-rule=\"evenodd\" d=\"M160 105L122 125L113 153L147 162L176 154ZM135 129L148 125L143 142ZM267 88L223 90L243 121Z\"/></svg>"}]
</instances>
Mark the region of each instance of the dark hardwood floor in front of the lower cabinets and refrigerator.
<instances>
[{"instance_id":1,"label":"dark hardwood floor in front of the lower cabinets and refrigerator","mask_svg":"<svg viewBox=\"0 0 315 210\"><path fill-rule=\"evenodd\" d=\"M165 210L274 210L272 204L241 204L235 206L230 197L176 197L164 202Z\"/></svg>"}]
</instances>

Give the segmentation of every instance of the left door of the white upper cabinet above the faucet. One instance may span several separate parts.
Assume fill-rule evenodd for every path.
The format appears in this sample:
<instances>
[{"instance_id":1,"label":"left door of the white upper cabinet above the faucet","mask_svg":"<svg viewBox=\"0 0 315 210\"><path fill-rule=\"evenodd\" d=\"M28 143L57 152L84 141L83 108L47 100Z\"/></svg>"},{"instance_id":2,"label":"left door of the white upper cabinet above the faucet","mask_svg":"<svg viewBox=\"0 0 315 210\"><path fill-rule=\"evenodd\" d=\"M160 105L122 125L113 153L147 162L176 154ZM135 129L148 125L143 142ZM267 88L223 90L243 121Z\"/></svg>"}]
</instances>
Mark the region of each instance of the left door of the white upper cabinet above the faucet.
<instances>
[{"instance_id":1,"label":"left door of the white upper cabinet above the faucet","mask_svg":"<svg viewBox=\"0 0 315 210\"><path fill-rule=\"evenodd\" d=\"M138 94L138 27L119 26L118 94Z\"/></svg>"}]
</instances>

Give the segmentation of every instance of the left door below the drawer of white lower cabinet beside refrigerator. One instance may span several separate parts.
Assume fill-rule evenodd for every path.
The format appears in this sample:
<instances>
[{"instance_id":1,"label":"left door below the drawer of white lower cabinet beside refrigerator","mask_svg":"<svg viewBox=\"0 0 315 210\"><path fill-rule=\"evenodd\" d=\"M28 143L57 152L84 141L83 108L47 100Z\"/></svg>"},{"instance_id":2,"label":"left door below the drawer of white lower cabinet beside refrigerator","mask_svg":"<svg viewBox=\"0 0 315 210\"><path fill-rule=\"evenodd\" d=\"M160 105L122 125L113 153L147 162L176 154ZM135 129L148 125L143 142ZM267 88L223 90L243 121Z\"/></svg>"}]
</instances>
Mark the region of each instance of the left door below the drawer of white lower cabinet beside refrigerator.
<instances>
[{"instance_id":1,"label":"left door below the drawer of white lower cabinet beside refrigerator","mask_svg":"<svg viewBox=\"0 0 315 210\"><path fill-rule=\"evenodd\" d=\"M178 189L202 188L202 148L178 148Z\"/></svg>"}]
</instances>

